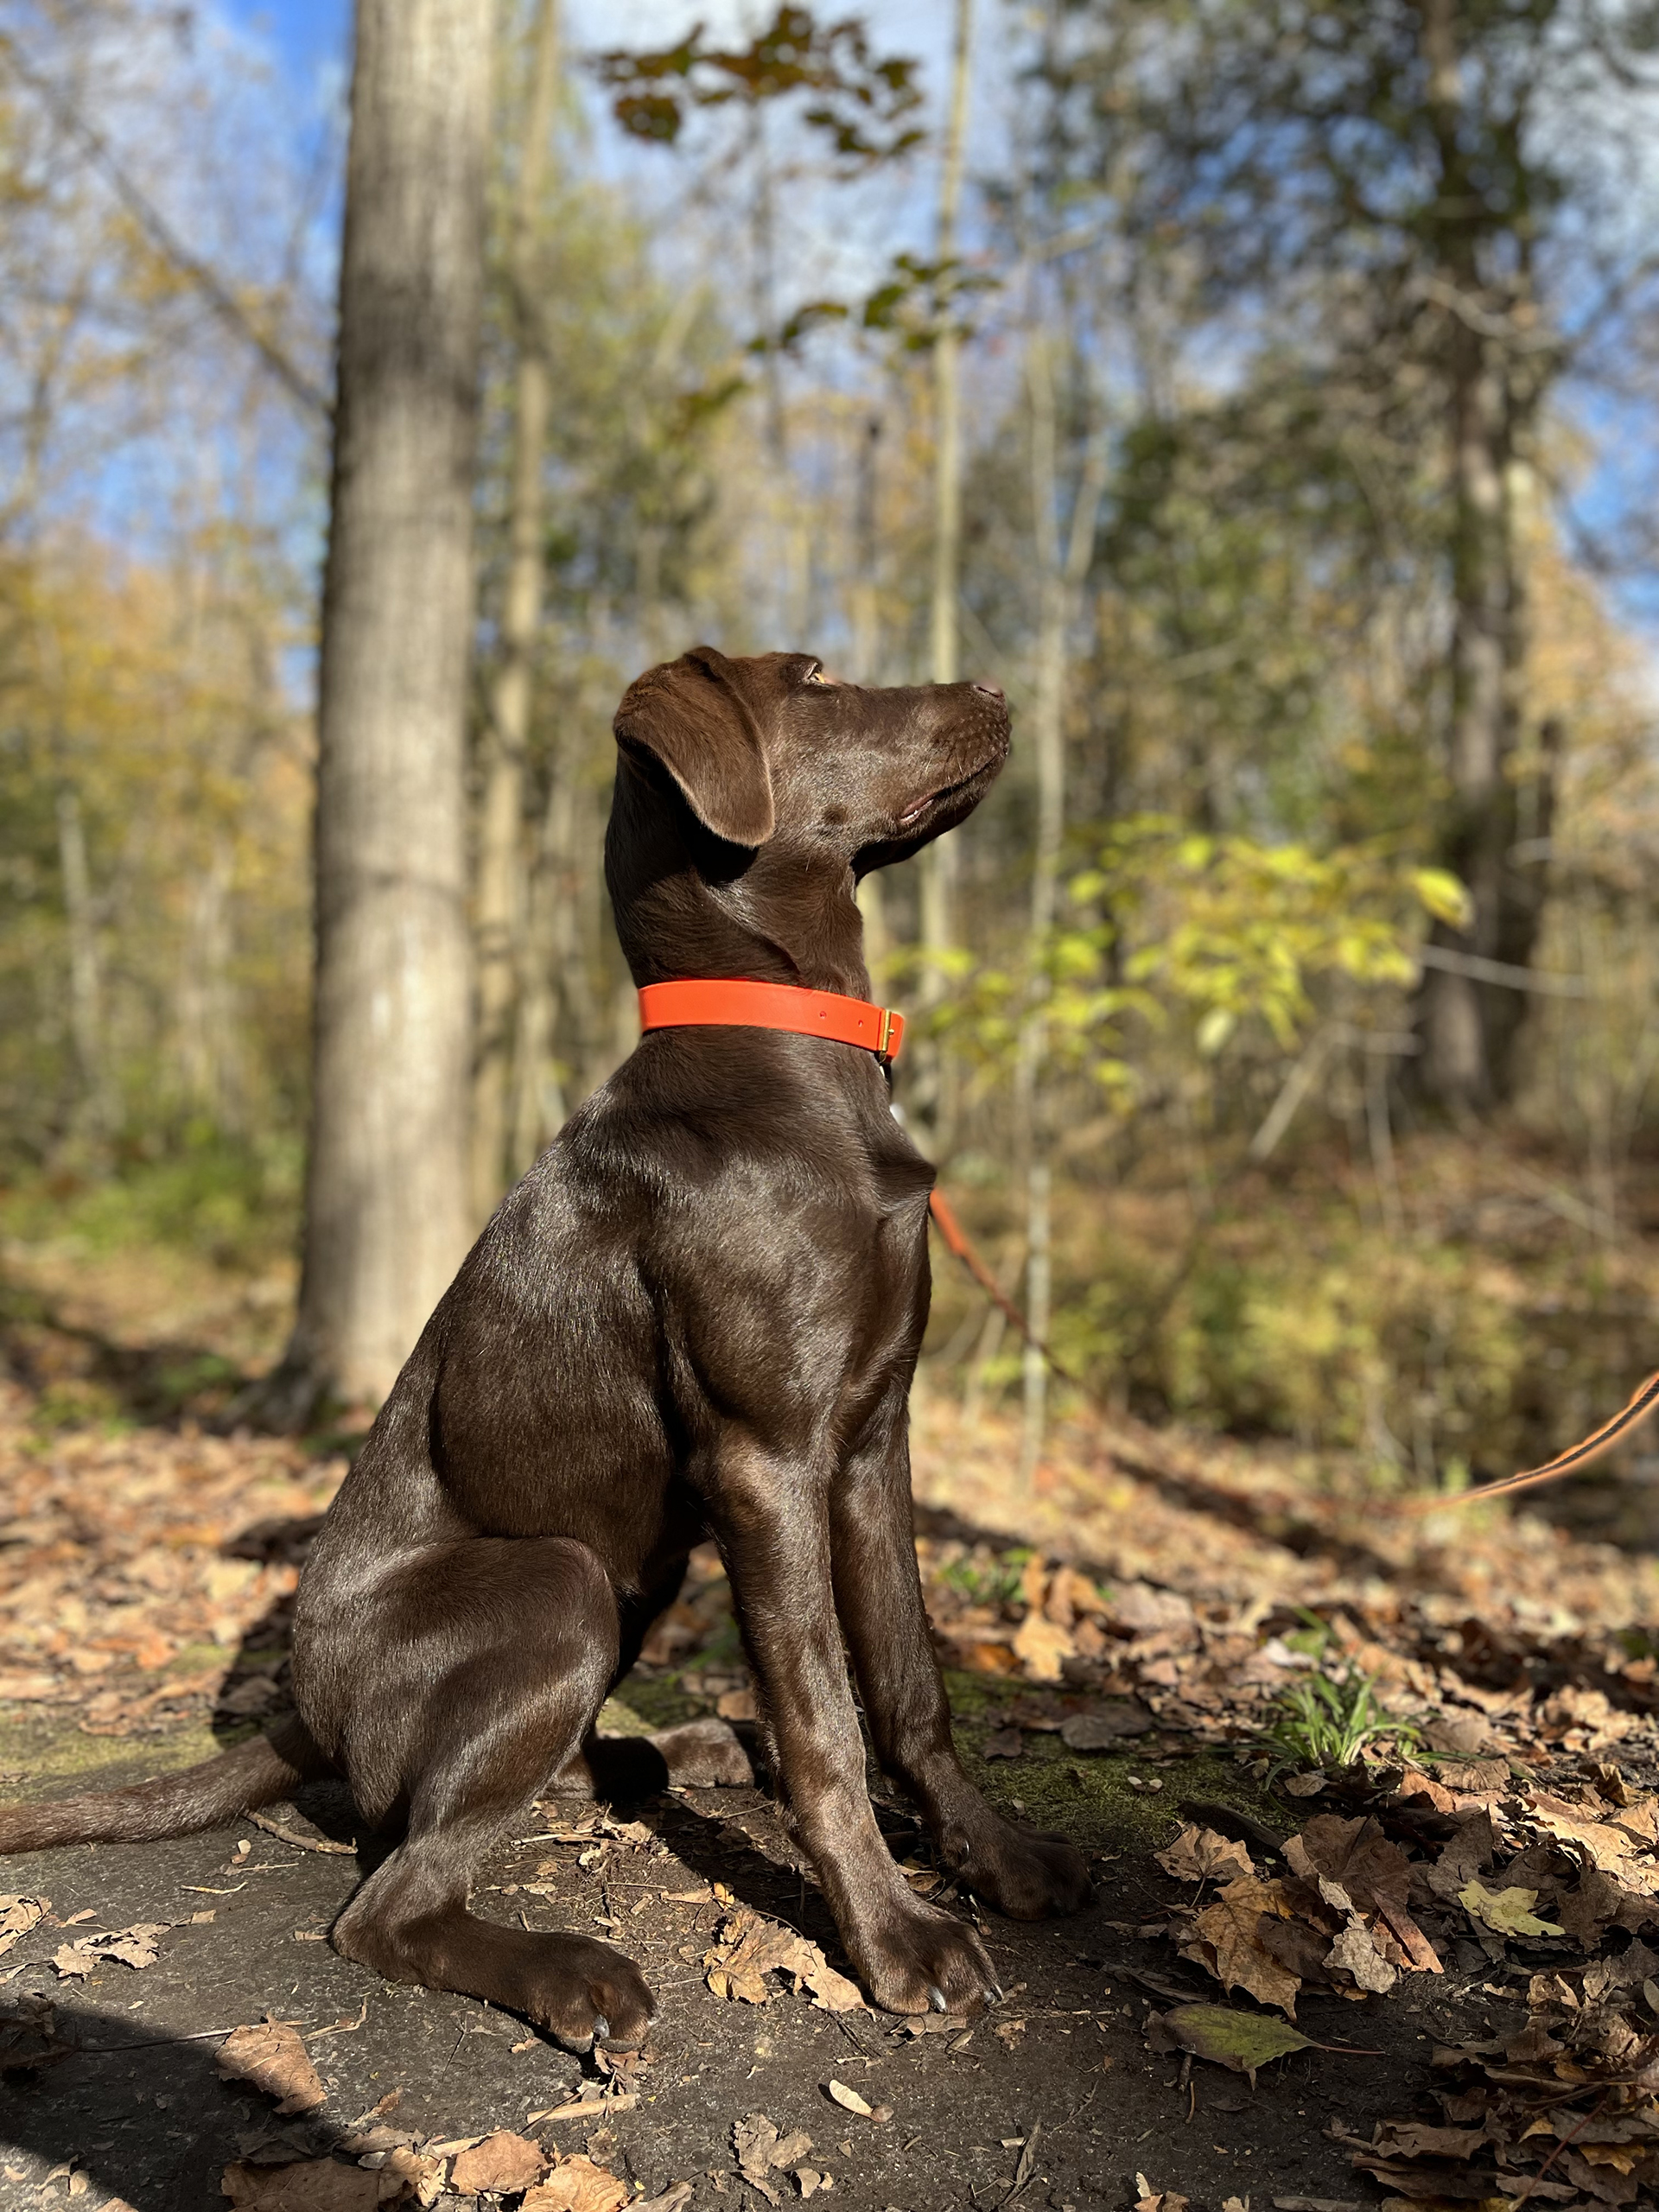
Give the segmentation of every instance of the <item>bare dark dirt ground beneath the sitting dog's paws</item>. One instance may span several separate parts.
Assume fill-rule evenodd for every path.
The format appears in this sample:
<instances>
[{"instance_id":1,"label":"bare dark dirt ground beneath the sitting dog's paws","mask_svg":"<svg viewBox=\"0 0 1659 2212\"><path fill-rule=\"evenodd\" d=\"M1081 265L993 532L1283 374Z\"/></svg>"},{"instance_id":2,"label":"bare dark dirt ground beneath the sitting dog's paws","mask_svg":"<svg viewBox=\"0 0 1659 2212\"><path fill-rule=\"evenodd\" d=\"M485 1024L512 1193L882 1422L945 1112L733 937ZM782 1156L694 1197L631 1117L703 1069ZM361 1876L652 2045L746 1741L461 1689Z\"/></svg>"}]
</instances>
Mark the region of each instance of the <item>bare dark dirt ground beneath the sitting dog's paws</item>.
<instances>
[{"instance_id":1,"label":"bare dark dirt ground beneath the sitting dog's paws","mask_svg":"<svg viewBox=\"0 0 1659 2212\"><path fill-rule=\"evenodd\" d=\"M325 1827L349 1827L338 1807L319 1812ZM566 1812L593 1816L591 1807ZM228 2163L325 2152L394 2090L396 2126L416 2139L511 2128L566 2154L588 2150L646 2197L692 2181L699 2208L723 2201L759 2212L732 2148L734 2126L754 2112L785 2137L810 2135L810 2157L796 2163L830 2174L836 2201L876 2212L998 2203L1084 2212L1128 2203L1139 2194L1137 2172L1155 2190L1214 2208L1228 2197L1256 2205L1272 2197L1354 2199L1347 2152L1323 2135L1327 2121L1352 2126L1378 2101L1394 2108L1409 2099L1422 2037L1462 2035L1491 2017L1491 2000L1473 1986L1482 1978L1440 1989L1431 2006L1363 2022L1352 2004L1329 1997L1303 2011L1305 2031L1374 2044L1378 2057L1307 2051L1254 2093L1214 2068L1197 2068L1183 2084L1179 2057L1150 2057L1144 2046L1148 2004L1161 2002L1119 1971L1126 1962L1170 1978L1168 1947L1137 1938L1133 1924L1144 1913L1161 1918L1177 1885L1144 1858L1115 1854L1102 1860L1099 1902L1082 1918L1042 1929L989 1922L1009 2000L973 2028L914 2035L883 2015L818 2011L790 1989L763 2006L726 2002L706 1986L701 1960L734 1907L834 1953L827 1916L743 1834L741 1823L761 1832L770 1823L757 1792L688 1792L639 1814L650 1840L606 1845L599 1836L588 1867L580 1860L584 1851L593 1858L595 1845L524 1843L500 1858L480 1891L480 1911L524 1913L531 1927L617 1920L615 1940L646 1966L659 1995L650 2057L626 2093L637 2104L606 2106L602 2097L593 2112L535 2126L529 2115L615 2084L515 2020L460 1997L394 1989L336 1958L319 1938L352 1889L356 1860L299 1849L248 1823L168 1845L11 1860L9 1882L49 1893L60 1924L42 1922L20 1940L7 1960L7 1997L13 2013L20 2000L51 2000L60 2035L80 2048L13 2077L4 2093L0 2205L55 2201L71 2177L60 2172L44 2194L42 2183L71 2161L86 2174L88 2212L111 2199L137 2212L219 2205ZM82 1913L91 1918L71 1927ZM82 1929L161 1922L168 1931L153 1966L111 1960L69 1984L51 1966ZM1197 1991L1199 1975L1179 1964L1175 1973ZM296 2022L307 2039L327 2090L316 2115L279 2121L268 2097L221 2081L217 2031L265 2015ZM838 2108L830 2081L872 2108L889 2106L891 2119ZM799 2197L787 2172L776 2181Z\"/></svg>"}]
</instances>

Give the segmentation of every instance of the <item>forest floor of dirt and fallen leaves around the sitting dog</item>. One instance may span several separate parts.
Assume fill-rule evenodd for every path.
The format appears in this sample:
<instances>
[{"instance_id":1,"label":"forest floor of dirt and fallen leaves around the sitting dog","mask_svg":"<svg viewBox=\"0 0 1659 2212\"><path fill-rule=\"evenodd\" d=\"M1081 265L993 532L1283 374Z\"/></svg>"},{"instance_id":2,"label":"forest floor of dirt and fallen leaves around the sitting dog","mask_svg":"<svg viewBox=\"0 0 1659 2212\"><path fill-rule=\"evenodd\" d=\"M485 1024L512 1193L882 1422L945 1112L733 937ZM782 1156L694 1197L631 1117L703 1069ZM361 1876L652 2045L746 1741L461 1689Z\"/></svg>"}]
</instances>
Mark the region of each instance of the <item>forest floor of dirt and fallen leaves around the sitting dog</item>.
<instances>
[{"instance_id":1,"label":"forest floor of dirt and fallen leaves around the sitting dog","mask_svg":"<svg viewBox=\"0 0 1659 2212\"><path fill-rule=\"evenodd\" d=\"M22 1798L281 1710L345 1458L212 1433L281 1283L15 1248L7 1272L0 1794ZM991 2015L856 2004L765 1790L546 1801L478 1909L641 1962L653 2044L604 2068L336 1958L372 1838L314 1790L221 1834L9 1863L0 2208L1652 2201L1655 1562L1097 1416L1060 1425L1026 1491L1015 1469L1006 1418L918 1394L964 1763L1097 1878L1073 1920L987 1916ZM604 1725L690 1712L752 1712L712 1553ZM971 1913L876 1787L914 1887Z\"/></svg>"}]
</instances>

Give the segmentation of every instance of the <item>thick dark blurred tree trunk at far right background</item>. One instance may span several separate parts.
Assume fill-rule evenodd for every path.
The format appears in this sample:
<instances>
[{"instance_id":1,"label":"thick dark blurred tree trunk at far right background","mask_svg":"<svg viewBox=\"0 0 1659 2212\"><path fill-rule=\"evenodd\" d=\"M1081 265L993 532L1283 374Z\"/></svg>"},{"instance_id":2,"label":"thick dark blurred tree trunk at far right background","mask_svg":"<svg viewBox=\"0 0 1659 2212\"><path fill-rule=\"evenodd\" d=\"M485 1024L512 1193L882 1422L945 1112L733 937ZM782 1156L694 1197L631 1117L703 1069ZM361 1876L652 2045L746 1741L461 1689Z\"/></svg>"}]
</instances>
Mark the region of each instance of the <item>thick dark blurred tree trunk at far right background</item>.
<instances>
[{"instance_id":1,"label":"thick dark blurred tree trunk at far right background","mask_svg":"<svg viewBox=\"0 0 1659 2212\"><path fill-rule=\"evenodd\" d=\"M1436 922L1453 962L1526 969L1542 918L1537 865L1517 869L1517 787L1526 659L1526 571L1515 489L1535 414L1533 372L1515 330L1528 296L1526 265L1495 281L1480 259L1484 197L1469 173L1455 0L1425 7L1429 113L1440 159L1440 314L1444 321L1451 476L1451 666L1447 772L1451 799L1440 860L1464 883L1469 927ZM1548 750L1537 805L1548 810ZM1515 1037L1526 998L1471 967L1422 975L1418 1088L1460 1119L1504 1104L1515 1082Z\"/></svg>"}]
</instances>

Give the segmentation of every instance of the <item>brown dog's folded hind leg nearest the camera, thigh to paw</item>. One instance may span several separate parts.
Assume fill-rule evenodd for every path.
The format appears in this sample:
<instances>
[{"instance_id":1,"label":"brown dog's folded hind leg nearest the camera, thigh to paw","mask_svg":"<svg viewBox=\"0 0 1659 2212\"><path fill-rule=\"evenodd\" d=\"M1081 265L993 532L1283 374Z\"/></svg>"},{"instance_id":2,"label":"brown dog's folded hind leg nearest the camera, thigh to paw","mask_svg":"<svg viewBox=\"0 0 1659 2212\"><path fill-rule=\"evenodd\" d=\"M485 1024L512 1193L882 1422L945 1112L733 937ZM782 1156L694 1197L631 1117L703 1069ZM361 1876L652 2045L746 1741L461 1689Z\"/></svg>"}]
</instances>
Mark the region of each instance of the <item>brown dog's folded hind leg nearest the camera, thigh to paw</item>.
<instances>
[{"instance_id":1,"label":"brown dog's folded hind leg nearest the camera, thigh to paw","mask_svg":"<svg viewBox=\"0 0 1659 2212\"><path fill-rule=\"evenodd\" d=\"M343 1765L365 1812L407 1805L407 1832L334 1922L334 1947L389 1982L487 1997L577 2051L644 2042L650 1991L611 1944L467 1909L480 1858L606 1694L617 1601L604 1568L560 1537L478 1537L400 1571L372 1610L372 1679L352 1699Z\"/></svg>"}]
</instances>

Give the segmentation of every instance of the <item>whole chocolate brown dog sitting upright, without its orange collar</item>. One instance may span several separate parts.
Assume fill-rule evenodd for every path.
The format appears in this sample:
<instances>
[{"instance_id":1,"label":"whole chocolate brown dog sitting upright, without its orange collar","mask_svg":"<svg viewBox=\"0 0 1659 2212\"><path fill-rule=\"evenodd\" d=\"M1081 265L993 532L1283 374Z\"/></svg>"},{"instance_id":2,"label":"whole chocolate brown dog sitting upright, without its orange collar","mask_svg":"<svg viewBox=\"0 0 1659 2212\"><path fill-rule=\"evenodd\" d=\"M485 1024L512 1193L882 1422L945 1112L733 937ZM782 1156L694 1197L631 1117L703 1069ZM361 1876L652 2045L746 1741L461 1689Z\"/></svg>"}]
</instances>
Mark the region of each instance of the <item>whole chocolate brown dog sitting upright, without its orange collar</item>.
<instances>
[{"instance_id":1,"label":"whole chocolate brown dog sitting upright, without its orange collar","mask_svg":"<svg viewBox=\"0 0 1659 2212\"><path fill-rule=\"evenodd\" d=\"M615 730L606 878L635 982L860 998L854 883L960 823L1009 752L993 686L860 690L801 653L708 646L639 677ZM998 1993L978 1936L911 1893L876 1827L847 1652L883 1767L978 1898L1073 1911L1088 1876L991 1812L951 1747L905 1411L931 1179L872 1053L650 1031L502 1199L380 1409L301 1579L296 1719L181 1776L0 1812L0 1849L173 1836L332 1770L400 1836L338 1951L573 2048L639 2044L630 1960L478 1920L469 1878L542 1792L606 1787L595 1714L712 1535L865 1989L978 2011ZM723 1723L639 1756L646 1783L748 1778Z\"/></svg>"}]
</instances>

